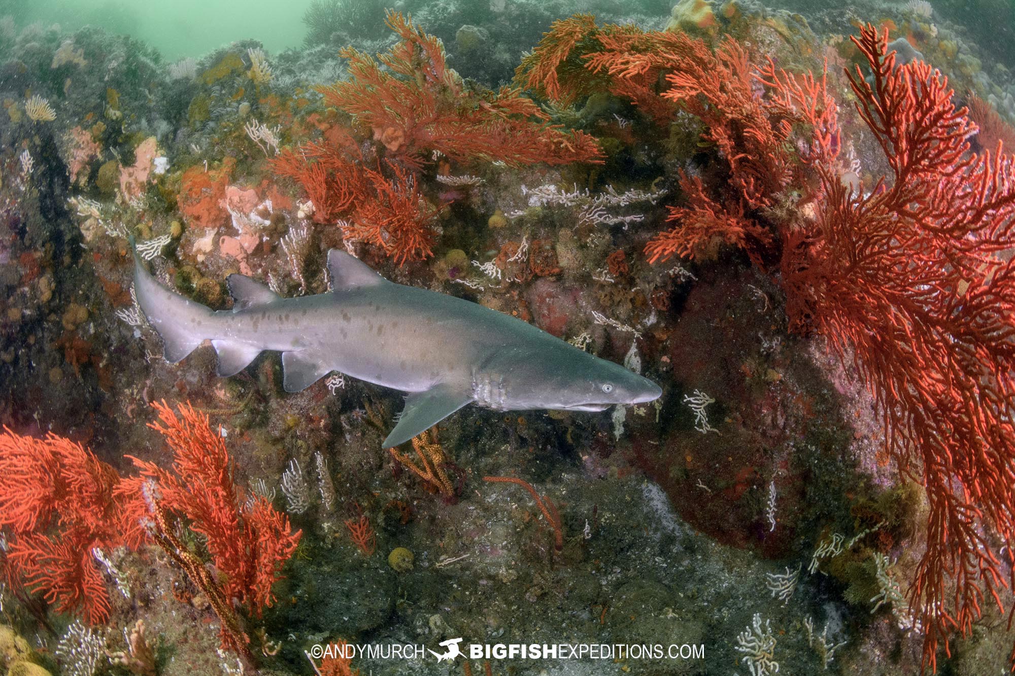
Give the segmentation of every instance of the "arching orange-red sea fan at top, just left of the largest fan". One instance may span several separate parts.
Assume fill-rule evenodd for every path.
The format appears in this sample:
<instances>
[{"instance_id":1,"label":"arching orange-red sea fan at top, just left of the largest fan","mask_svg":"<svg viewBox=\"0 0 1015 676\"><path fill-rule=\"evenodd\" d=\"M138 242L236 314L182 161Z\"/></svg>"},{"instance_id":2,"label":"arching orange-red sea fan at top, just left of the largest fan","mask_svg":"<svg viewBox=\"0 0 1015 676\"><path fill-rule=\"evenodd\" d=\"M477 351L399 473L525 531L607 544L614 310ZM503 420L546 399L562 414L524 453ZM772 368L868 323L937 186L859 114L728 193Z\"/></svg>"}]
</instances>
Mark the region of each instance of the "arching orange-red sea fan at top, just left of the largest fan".
<instances>
[{"instance_id":1,"label":"arching orange-red sea fan at top, just left of the largest fan","mask_svg":"<svg viewBox=\"0 0 1015 676\"><path fill-rule=\"evenodd\" d=\"M680 173L685 204L669 207L667 221L674 226L646 247L653 262L674 254L714 255L726 243L760 263L773 236L756 212L774 206L798 179L800 160L789 151L791 141L801 138L796 132L806 127L806 143L813 145L802 148L804 162L838 151L835 103L824 78L798 79L770 61L754 69L732 39L713 52L683 32L597 26L590 17L576 16L551 26L516 77L567 103L591 93L589 73L600 77L600 88L629 99L658 123L668 124L678 110L694 115L704 124L703 138L726 163L728 188L722 194L707 190L699 177Z\"/></svg>"}]
</instances>

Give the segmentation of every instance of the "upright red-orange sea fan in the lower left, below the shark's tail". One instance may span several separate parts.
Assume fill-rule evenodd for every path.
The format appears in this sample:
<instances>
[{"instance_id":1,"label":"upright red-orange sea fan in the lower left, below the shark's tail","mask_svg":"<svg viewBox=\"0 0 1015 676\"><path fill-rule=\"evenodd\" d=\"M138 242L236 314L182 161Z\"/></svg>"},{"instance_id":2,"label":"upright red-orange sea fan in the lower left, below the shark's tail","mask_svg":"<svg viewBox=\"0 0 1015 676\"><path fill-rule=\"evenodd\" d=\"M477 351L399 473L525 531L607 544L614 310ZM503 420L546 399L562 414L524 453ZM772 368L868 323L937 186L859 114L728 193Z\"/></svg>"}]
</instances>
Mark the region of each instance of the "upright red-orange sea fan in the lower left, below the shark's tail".
<instances>
[{"instance_id":1,"label":"upright red-orange sea fan in the lower left, below the shark's tail","mask_svg":"<svg viewBox=\"0 0 1015 676\"><path fill-rule=\"evenodd\" d=\"M274 600L271 587L280 579L301 531L291 532L288 518L267 498L244 495L235 484L222 436L211 428L205 414L189 404L180 406L178 412L164 402L152 406L159 419L148 426L173 449L173 469L128 456L141 475L125 479L117 493L132 500L132 528L164 537L167 531L156 519L162 512L166 523L178 520L202 535L218 571L212 582L221 587L229 608L240 603L260 615ZM200 581L195 583L200 586ZM223 620L223 644L235 650L234 636L227 635L225 624Z\"/></svg>"}]
</instances>

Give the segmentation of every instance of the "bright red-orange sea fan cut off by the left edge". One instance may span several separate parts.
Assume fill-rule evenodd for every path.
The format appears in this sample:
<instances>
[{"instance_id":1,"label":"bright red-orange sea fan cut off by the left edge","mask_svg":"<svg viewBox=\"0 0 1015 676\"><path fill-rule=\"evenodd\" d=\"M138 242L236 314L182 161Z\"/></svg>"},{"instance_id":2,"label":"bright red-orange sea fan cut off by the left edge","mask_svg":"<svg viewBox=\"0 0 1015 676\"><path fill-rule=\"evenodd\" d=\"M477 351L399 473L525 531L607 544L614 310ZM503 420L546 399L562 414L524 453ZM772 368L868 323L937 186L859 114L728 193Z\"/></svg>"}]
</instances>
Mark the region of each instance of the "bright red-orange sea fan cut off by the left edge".
<instances>
[{"instance_id":1,"label":"bright red-orange sea fan cut off by the left edge","mask_svg":"<svg viewBox=\"0 0 1015 676\"><path fill-rule=\"evenodd\" d=\"M7 579L15 592L42 593L59 612L90 624L109 618L110 600L93 551L136 546L119 528L116 470L80 444L0 434L0 527Z\"/></svg>"}]
</instances>

